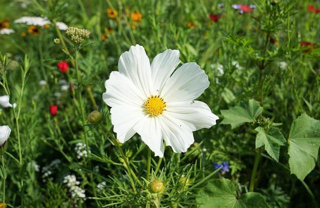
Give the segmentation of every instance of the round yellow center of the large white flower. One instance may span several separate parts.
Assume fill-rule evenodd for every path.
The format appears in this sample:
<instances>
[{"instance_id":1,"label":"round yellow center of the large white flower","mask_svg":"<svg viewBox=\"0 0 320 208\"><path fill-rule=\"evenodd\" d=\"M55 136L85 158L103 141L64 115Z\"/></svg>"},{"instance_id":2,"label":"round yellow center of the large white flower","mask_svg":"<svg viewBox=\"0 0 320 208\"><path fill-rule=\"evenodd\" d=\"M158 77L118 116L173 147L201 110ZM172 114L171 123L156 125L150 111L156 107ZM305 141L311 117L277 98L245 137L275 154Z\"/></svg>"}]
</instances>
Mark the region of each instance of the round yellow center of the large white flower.
<instances>
[{"instance_id":1,"label":"round yellow center of the large white flower","mask_svg":"<svg viewBox=\"0 0 320 208\"><path fill-rule=\"evenodd\" d=\"M165 111L165 102L163 98L160 98L160 96L154 96L151 95L151 97L148 97L144 103L144 108L150 114L151 116L157 116L159 114L162 114L163 111Z\"/></svg>"}]
</instances>

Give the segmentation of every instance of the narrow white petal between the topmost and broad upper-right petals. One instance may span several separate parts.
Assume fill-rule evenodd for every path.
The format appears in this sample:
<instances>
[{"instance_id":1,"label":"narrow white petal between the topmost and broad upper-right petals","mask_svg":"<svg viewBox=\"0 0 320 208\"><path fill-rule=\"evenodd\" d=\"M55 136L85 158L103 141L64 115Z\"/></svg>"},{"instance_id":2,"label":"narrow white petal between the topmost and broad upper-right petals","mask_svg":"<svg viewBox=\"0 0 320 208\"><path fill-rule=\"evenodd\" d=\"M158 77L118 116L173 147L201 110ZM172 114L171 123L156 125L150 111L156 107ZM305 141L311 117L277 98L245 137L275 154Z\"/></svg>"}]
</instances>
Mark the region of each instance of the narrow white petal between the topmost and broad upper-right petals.
<instances>
[{"instance_id":1,"label":"narrow white petal between the topmost and broad upper-right petals","mask_svg":"<svg viewBox=\"0 0 320 208\"><path fill-rule=\"evenodd\" d=\"M158 94L176 66L180 63L179 51L167 49L157 54L151 63L153 94Z\"/></svg>"}]
</instances>

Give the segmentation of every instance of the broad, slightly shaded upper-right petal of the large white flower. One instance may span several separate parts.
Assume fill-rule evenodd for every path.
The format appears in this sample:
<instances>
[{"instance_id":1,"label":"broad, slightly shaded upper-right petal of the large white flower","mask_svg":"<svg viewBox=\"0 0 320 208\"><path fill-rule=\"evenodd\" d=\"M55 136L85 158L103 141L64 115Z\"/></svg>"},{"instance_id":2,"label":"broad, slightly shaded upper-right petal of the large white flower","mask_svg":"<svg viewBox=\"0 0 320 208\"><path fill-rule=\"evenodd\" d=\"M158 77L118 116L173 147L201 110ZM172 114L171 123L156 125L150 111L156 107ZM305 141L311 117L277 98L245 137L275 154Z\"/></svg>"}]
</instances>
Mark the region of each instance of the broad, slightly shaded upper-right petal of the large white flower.
<instances>
[{"instance_id":1,"label":"broad, slightly shaded upper-right petal of the large white flower","mask_svg":"<svg viewBox=\"0 0 320 208\"><path fill-rule=\"evenodd\" d=\"M165 102L190 101L209 86L208 76L196 63L185 63L166 82L161 96Z\"/></svg>"}]
</instances>

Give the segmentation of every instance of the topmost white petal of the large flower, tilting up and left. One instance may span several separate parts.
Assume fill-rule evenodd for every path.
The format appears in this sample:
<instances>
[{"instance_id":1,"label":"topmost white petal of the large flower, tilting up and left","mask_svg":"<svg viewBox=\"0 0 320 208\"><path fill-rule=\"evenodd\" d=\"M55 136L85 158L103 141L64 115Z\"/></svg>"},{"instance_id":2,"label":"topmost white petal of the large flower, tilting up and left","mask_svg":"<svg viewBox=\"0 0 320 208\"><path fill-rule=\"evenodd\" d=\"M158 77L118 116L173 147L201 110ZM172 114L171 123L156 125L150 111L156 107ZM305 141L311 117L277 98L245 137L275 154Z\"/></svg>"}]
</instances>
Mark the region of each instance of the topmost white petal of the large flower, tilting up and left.
<instances>
[{"instance_id":1,"label":"topmost white petal of the large flower, tilting up and left","mask_svg":"<svg viewBox=\"0 0 320 208\"><path fill-rule=\"evenodd\" d=\"M140 45L131 46L121 54L118 62L119 72L129 78L145 97L151 95L150 61Z\"/></svg>"}]
</instances>

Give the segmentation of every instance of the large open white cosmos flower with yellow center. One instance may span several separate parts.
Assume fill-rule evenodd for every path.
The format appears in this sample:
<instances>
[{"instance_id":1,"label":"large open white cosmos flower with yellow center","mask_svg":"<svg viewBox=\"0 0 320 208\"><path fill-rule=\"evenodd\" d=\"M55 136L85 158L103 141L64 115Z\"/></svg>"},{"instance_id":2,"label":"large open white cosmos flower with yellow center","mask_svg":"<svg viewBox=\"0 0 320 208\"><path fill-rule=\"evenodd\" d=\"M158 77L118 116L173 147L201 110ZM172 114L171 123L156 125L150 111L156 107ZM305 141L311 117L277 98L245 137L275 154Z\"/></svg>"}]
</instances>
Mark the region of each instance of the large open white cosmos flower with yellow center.
<instances>
[{"instance_id":1,"label":"large open white cosmos flower with yellow center","mask_svg":"<svg viewBox=\"0 0 320 208\"><path fill-rule=\"evenodd\" d=\"M210 108L194 101L209 86L208 77L194 62L172 74L179 62L178 50L165 50L151 65L140 45L122 53L119 71L111 72L102 95L121 143L138 133L155 156L163 157L162 140L175 153L185 152L194 142L193 131L216 124Z\"/></svg>"}]
</instances>

